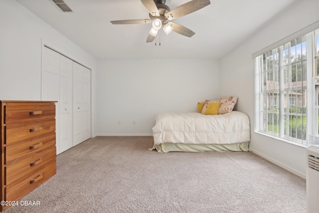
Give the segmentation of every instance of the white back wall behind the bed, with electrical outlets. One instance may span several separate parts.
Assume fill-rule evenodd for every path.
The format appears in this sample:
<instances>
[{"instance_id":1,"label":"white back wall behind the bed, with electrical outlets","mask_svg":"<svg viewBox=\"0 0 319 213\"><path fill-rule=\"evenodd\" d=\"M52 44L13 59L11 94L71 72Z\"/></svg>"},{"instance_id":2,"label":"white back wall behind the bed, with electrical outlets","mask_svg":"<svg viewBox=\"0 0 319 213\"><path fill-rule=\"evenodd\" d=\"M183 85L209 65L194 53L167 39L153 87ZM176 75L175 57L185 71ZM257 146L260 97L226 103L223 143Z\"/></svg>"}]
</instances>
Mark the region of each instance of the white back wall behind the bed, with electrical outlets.
<instances>
[{"instance_id":1,"label":"white back wall behind the bed, with electrical outlets","mask_svg":"<svg viewBox=\"0 0 319 213\"><path fill-rule=\"evenodd\" d=\"M219 63L211 59L99 60L96 83L97 135L152 135L156 114L196 112L197 102L219 98Z\"/></svg>"}]
</instances>

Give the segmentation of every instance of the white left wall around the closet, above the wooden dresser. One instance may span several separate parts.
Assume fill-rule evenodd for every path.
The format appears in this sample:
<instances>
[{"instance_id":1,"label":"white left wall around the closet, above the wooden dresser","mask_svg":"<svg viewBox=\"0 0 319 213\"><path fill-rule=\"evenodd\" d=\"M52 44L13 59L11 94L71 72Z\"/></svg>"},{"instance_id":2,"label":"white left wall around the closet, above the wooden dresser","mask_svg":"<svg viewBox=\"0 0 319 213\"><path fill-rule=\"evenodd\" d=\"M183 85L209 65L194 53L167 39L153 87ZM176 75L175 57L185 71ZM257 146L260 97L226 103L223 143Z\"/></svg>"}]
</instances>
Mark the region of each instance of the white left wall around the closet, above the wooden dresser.
<instances>
[{"instance_id":1,"label":"white left wall around the closet, above the wooden dresser","mask_svg":"<svg viewBox=\"0 0 319 213\"><path fill-rule=\"evenodd\" d=\"M96 69L97 60L15 0L0 0L0 100L41 100L42 40Z\"/></svg>"}]
</instances>

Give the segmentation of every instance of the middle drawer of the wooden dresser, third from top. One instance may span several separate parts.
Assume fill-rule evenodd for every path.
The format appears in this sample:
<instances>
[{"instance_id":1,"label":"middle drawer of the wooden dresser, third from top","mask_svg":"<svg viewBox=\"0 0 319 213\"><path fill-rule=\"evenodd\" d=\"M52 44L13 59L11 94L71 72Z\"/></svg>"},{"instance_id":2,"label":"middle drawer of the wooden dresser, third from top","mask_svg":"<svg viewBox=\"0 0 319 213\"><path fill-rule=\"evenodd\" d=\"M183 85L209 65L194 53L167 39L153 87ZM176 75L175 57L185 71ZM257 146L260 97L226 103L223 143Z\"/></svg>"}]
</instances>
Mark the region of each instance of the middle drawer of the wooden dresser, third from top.
<instances>
[{"instance_id":1,"label":"middle drawer of the wooden dresser, third from top","mask_svg":"<svg viewBox=\"0 0 319 213\"><path fill-rule=\"evenodd\" d=\"M55 146L55 132L7 145L5 147L5 164L10 165L51 146Z\"/></svg>"}]
</instances>

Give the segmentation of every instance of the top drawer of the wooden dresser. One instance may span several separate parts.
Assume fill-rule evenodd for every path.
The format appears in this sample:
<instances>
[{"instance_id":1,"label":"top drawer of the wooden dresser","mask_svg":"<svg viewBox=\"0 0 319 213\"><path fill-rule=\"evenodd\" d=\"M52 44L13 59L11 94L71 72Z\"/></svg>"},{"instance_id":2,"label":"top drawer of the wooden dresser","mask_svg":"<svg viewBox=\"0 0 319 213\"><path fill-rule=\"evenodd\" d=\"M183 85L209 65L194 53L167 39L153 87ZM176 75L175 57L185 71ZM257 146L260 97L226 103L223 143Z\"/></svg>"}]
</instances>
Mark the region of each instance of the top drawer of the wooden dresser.
<instances>
[{"instance_id":1,"label":"top drawer of the wooden dresser","mask_svg":"<svg viewBox=\"0 0 319 213\"><path fill-rule=\"evenodd\" d=\"M54 103L6 103L4 123L55 117Z\"/></svg>"}]
</instances>

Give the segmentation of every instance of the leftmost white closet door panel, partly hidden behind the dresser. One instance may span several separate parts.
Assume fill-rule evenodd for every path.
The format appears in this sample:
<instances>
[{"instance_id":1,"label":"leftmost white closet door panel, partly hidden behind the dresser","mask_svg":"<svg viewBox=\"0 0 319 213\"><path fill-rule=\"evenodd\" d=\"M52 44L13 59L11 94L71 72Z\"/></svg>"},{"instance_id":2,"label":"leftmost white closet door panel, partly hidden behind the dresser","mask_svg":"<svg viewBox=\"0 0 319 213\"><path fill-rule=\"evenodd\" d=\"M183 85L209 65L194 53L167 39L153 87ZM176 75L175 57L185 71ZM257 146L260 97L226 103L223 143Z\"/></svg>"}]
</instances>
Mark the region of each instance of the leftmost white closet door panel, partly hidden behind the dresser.
<instances>
[{"instance_id":1,"label":"leftmost white closet door panel, partly hidden behind the dresser","mask_svg":"<svg viewBox=\"0 0 319 213\"><path fill-rule=\"evenodd\" d=\"M60 54L44 47L42 57L42 74L41 74L41 100L59 101L60 99ZM59 143L59 102L55 103L55 120L56 120L56 154L60 153Z\"/></svg>"}]
</instances>

